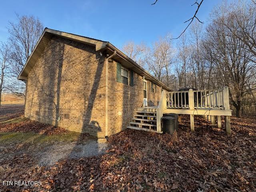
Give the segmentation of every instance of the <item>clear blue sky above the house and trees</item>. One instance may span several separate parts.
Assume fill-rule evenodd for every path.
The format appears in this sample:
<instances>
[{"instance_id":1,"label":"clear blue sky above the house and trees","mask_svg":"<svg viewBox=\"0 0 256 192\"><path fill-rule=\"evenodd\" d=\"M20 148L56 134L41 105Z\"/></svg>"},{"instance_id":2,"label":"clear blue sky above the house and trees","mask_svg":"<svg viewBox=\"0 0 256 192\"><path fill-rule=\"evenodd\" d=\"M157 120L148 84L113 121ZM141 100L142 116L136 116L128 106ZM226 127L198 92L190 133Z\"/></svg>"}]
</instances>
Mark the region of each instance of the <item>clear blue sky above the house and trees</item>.
<instances>
[{"instance_id":1,"label":"clear blue sky above the house and trees","mask_svg":"<svg viewBox=\"0 0 256 192\"><path fill-rule=\"evenodd\" d=\"M34 15L45 27L106 40L121 48L133 40L150 44L167 33L178 36L196 10L195 0L6 0L1 2L0 41L8 38L8 21ZM222 0L204 0L198 18L207 22Z\"/></svg>"}]
</instances>

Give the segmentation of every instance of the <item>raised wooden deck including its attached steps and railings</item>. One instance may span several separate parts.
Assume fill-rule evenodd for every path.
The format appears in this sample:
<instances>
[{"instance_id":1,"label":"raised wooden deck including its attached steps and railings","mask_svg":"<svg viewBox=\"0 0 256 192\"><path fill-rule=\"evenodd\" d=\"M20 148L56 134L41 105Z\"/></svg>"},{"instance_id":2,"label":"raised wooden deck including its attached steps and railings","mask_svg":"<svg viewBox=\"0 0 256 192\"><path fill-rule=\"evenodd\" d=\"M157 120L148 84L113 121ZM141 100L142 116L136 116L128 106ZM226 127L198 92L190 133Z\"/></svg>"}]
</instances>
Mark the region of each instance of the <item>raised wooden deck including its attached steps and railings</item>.
<instances>
[{"instance_id":1,"label":"raised wooden deck including its attached steps and railings","mask_svg":"<svg viewBox=\"0 0 256 192\"><path fill-rule=\"evenodd\" d=\"M221 128L221 116L225 117L226 133L230 134L228 87L212 90L162 91L158 106L138 108L127 128L162 133L163 114L190 115L191 131L195 130L194 116L201 115Z\"/></svg>"}]
</instances>

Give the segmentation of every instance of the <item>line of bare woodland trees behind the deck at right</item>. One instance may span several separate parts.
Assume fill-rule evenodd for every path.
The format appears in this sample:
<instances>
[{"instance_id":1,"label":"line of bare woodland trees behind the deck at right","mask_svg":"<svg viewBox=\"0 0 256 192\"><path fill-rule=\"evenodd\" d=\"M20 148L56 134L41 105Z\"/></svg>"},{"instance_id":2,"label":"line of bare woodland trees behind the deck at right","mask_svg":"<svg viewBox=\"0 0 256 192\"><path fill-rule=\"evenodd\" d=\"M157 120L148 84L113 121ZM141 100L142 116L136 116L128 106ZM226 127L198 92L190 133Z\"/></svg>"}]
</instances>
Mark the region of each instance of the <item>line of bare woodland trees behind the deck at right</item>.
<instances>
[{"instance_id":1,"label":"line of bare woodland trees behind the deck at right","mask_svg":"<svg viewBox=\"0 0 256 192\"><path fill-rule=\"evenodd\" d=\"M194 22L178 40L166 35L122 50L172 90L228 86L236 116L256 111L255 1L223 3L207 25Z\"/></svg>"}]
</instances>

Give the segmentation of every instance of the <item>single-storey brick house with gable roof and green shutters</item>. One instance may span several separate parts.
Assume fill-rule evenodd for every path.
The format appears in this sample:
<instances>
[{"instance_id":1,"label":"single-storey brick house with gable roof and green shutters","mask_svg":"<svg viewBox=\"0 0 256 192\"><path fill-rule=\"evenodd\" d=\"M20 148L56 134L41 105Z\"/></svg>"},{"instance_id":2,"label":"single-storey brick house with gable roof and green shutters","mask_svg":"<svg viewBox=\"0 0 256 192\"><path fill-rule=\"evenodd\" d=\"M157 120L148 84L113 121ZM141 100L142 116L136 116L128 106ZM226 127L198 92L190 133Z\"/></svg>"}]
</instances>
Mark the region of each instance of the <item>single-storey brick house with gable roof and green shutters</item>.
<instances>
[{"instance_id":1,"label":"single-storey brick house with gable roof and green shutters","mask_svg":"<svg viewBox=\"0 0 256 192\"><path fill-rule=\"evenodd\" d=\"M26 81L27 118L98 137L120 132L170 91L109 42L48 28L18 79Z\"/></svg>"}]
</instances>

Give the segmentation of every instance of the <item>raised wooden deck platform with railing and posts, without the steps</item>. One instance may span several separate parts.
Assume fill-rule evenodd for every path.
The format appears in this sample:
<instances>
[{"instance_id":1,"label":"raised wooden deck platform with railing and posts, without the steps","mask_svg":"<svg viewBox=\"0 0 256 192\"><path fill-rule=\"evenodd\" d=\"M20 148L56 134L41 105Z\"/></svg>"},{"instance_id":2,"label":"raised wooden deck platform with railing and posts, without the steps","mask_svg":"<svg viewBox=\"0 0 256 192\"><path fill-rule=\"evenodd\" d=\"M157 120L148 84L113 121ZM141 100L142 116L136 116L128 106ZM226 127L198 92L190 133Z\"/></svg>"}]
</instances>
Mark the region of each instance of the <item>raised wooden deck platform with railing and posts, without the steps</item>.
<instances>
[{"instance_id":1,"label":"raised wooden deck platform with railing and posts, without the steps","mask_svg":"<svg viewBox=\"0 0 256 192\"><path fill-rule=\"evenodd\" d=\"M161 131L161 118L166 113L190 115L190 128L194 131L194 116L201 115L221 127L221 116L225 116L226 133L230 134L230 116L228 87L212 90L192 90L165 92L161 94L158 106L147 107L156 109L157 131Z\"/></svg>"}]
</instances>

